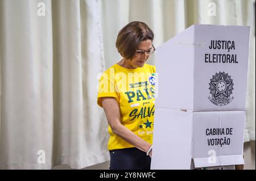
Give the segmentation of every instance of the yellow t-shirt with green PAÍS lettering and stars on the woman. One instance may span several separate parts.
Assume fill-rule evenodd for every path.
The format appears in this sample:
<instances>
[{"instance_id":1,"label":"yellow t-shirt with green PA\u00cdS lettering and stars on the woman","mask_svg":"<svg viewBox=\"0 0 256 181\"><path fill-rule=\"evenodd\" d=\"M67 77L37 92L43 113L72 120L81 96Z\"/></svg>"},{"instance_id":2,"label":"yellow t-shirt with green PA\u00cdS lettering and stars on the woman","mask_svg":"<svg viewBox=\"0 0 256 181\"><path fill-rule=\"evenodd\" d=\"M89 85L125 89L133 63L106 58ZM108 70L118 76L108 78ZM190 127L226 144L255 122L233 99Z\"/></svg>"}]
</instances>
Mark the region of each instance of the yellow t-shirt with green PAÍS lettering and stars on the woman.
<instances>
[{"instance_id":1,"label":"yellow t-shirt with green PA\u00cdS lettering and stars on the woman","mask_svg":"<svg viewBox=\"0 0 256 181\"><path fill-rule=\"evenodd\" d=\"M113 97L117 100L121 110L121 124L152 144L155 66L144 64L142 68L126 69L114 64L102 74L98 85L97 103L101 107L102 97ZM109 150L134 147L114 134L110 126L108 131Z\"/></svg>"}]
</instances>

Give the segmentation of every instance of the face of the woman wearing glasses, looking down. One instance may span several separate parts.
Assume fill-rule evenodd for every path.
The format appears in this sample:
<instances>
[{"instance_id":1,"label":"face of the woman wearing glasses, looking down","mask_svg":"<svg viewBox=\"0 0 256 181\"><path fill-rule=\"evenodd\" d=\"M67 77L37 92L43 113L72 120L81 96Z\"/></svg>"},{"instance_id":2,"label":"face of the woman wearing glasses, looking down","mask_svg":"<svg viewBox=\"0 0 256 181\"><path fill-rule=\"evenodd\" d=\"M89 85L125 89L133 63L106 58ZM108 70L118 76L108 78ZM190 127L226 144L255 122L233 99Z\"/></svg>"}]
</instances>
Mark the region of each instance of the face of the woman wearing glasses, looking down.
<instances>
[{"instance_id":1,"label":"face of the woman wearing glasses, looking down","mask_svg":"<svg viewBox=\"0 0 256 181\"><path fill-rule=\"evenodd\" d=\"M151 40L141 41L135 55L130 60L130 64L134 68L142 68L147 61L147 58L150 57L150 51L152 51L152 49L154 48Z\"/></svg>"}]
</instances>

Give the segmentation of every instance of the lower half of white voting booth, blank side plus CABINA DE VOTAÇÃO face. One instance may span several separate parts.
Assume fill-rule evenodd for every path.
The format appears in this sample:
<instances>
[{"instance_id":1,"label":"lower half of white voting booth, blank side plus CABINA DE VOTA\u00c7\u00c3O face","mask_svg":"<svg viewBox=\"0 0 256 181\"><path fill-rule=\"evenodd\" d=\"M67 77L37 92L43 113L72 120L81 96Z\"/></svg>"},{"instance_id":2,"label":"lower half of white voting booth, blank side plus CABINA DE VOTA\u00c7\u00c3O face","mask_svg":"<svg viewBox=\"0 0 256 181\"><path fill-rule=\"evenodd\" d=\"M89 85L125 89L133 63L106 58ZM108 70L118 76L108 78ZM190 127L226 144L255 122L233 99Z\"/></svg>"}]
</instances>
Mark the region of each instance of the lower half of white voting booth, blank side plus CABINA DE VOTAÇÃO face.
<instances>
[{"instance_id":1,"label":"lower half of white voting booth, blank side plus CABINA DE VOTA\u00c7\u00c3O face","mask_svg":"<svg viewBox=\"0 0 256 181\"><path fill-rule=\"evenodd\" d=\"M191 169L191 159L195 167L242 164L244 123L244 111L183 112L156 108L151 169ZM206 135L209 128L229 128L229 132ZM223 137L230 138L228 145L208 144L208 138Z\"/></svg>"}]
</instances>

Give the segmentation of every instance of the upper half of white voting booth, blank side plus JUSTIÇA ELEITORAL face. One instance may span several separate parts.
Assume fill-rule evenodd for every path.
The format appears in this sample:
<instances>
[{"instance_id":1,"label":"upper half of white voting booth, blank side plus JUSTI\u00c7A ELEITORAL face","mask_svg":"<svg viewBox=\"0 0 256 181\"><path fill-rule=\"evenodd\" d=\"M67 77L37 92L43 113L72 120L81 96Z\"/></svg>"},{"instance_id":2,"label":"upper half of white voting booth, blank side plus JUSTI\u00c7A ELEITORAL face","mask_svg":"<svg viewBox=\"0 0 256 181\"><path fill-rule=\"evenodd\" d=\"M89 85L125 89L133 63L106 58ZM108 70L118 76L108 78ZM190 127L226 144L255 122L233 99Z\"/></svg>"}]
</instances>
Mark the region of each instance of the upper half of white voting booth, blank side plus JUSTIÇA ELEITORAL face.
<instances>
[{"instance_id":1,"label":"upper half of white voting booth, blank side plus JUSTI\u00c7A ELEITORAL face","mask_svg":"<svg viewBox=\"0 0 256 181\"><path fill-rule=\"evenodd\" d=\"M158 47L156 107L244 111L249 31L245 26L193 25ZM211 40L234 41L234 49L209 49ZM234 54L238 63L207 63L205 54Z\"/></svg>"}]
</instances>

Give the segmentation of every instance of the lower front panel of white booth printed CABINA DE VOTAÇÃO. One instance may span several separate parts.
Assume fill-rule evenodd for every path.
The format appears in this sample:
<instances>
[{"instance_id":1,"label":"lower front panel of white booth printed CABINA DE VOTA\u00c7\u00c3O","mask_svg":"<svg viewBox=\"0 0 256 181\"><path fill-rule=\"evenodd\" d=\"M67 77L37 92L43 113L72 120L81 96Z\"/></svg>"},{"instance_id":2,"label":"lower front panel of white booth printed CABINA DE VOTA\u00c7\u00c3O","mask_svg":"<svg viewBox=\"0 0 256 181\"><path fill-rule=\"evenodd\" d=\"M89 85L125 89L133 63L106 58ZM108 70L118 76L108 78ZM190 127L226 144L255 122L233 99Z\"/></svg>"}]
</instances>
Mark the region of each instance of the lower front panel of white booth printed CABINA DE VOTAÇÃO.
<instances>
[{"instance_id":1,"label":"lower front panel of white booth printed CABINA DE VOTA\u00c7\u00c3O","mask_svg":"<svg viewBox=\"0 0 256 181\"><path fill-rule=\"evenodd\" d=\"M244 111L193 113L192 157L243 154L244 128ZM221 132L214 134L217 130Z\"/></svg>"}]
</instances>

